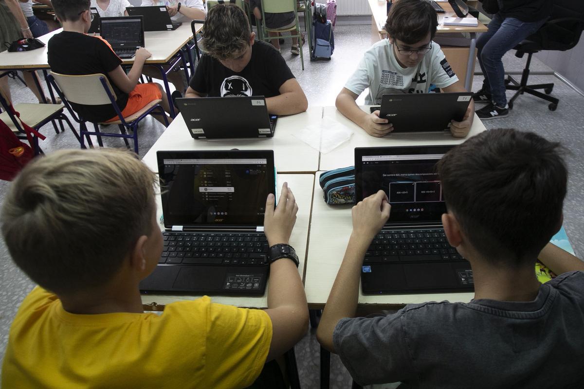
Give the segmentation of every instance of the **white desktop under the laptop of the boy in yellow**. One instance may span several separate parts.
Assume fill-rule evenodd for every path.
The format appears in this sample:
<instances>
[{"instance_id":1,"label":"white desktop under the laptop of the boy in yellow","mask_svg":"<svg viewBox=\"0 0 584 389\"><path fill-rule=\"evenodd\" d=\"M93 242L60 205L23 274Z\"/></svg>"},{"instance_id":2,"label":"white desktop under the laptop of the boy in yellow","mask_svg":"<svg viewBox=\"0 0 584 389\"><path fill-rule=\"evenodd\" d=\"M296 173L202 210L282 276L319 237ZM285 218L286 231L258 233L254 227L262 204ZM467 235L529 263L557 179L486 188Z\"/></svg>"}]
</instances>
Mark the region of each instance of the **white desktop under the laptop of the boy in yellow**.
<instances>
[{"instance_id":1,"label":"white desktop under the laptop of the boy in yellow","mask_svg":"<svg viewBox=\"0 0 584 389\"><path fill-rule=\"evenodd\" d=\"M304 267L306 264L307 241L308 241L308 227L310 225L310 209L312 204L312 185L314 184L314 174L278 174L277 185L281 185L287 181L290 188L294 191L294 197L298 204L298 213L296 218L296 225L292 236L290 237L290 245L294 247L300 260L298 266L298 273L302 277L304 274ZM160 196L157 196L157 220L160 220L162 215ZM161 225L164 229L164 225ZM238 307L253 307L266 308L267 307L267 288L270 287L268 281L266 286L266 293L260 297L235 297L235 296L213 296L214 303L231 304ZM166 305L180 300L194 300L201 297L201 295L142 295L142 304L157 303L158 305Z\"/></svg>"}]
</instances>

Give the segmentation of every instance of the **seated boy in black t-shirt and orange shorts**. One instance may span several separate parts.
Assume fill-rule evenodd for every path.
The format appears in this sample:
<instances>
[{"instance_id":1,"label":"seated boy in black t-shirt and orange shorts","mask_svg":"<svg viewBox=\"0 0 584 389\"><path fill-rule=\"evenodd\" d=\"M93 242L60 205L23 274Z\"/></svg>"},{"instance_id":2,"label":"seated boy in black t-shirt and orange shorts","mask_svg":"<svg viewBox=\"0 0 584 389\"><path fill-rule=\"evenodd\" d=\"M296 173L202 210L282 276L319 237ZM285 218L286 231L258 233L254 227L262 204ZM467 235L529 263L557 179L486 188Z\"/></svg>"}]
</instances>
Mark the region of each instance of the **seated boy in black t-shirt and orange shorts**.
<instances>
[{"instance_id":1,"label":"seated boy in black t-shirt and orange shorts","mask_svg":"<svg viewBox=\"0 0 584 389\"><path fill-rule=\"evenodd\" d=\"M124 117L157 99L161 99L162 108L170 112L162 86L157 83L138 84L142 66L151 55L148 50L144 47L136 50L134 64L126 74L120 66L121 59L110 44L101 37L86 34L92 19L89 0L54 0L53 9L63 24L63 31L48 41L48 65L52 71L66 75L105 74ZM118 120L112 104L90 106L71 103L71 107L82 118L91 122ZM162 117L153 116L164 124ZM168 120L172 121L171 118Z\"/></svg>"}]
</instances>

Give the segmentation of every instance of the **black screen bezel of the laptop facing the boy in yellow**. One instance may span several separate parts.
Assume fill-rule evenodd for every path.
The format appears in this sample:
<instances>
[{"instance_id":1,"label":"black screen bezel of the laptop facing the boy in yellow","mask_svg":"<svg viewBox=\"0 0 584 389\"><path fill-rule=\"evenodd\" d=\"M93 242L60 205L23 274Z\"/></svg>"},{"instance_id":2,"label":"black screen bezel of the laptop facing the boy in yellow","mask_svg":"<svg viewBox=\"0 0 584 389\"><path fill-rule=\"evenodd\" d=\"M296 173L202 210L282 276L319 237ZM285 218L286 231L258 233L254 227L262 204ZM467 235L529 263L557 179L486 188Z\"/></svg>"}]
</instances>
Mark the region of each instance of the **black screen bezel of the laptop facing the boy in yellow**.
<instances>
[{"instance_id":1,"label":"black screen bezel of the laptop facing the boy in yellow","mask_svg":"<svg viewBox=\"0 0 584 389\"><path fill-rule=\"evenodd\" d=\"M157 152L157 162L158 162L158 180L160 183L161 192L164 191L164 186L162 183L161 171L164 172L164 160L165 159L244 159L244 158L265 158L267 160L266 170L267 170L267 192L276 195L276 169L274 167L274 152L273 150L185 150L185 151L158 151ZM167 205L165 204L164 197L161 193L162 202L162 215L164 215L164 226L166 229L172 229L173 226L182 226L184 229L244 229L244 228L254 228L256 225L251 224L238 224L238 225L217 225L217 224L188 224L183 223L180 217L173 217L169 215L166 211ZM275 205L274 205L275 206ZM263 224L262 224L263 225Z\"/></svg>"}]
</instances>

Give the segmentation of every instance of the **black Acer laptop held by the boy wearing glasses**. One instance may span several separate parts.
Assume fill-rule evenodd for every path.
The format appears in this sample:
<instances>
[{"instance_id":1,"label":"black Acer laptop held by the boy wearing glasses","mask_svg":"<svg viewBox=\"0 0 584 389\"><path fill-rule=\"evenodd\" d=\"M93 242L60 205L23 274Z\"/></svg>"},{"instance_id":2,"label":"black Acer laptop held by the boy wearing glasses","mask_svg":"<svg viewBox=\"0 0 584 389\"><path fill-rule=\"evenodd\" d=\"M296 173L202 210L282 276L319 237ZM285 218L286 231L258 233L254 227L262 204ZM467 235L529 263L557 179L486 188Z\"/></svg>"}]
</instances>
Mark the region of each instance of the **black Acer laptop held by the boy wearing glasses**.
<instances>
[{"instance_id":1,"label":"black Acer laptop held by the boy wearing glasses","mask_svg":"<svg viewBox=\"0 0 584 389\"><path fill-rule=\"evenodd\" d=\"M450 121L463 120L472 92L384 94L379 117L394 125L392 132L446 131ZM390 132L390 134L392 134Z\"/></svg>"}]
</instances>

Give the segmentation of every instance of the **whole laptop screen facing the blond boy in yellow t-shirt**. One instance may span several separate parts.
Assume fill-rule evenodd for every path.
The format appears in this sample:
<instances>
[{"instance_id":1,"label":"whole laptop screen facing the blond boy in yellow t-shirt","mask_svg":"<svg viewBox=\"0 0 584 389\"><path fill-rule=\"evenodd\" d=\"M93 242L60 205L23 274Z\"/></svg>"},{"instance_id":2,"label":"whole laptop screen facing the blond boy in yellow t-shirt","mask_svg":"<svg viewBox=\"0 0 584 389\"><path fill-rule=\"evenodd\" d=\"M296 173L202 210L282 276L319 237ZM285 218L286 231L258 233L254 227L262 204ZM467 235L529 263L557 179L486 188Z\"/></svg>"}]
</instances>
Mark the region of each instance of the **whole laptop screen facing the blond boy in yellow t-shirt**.
<instances>
[{"instance_id":1,"label":"whole laptop screen facing the blond boy in yellow t-shirt","mask_svg":"<svg viewBox=\"0 0 584 389\"><path fill-rule=\"evenodd\" d=\"M162 211L174 226L263 226L272 150L158 152Z\"/></svg>"}]
</instances>

